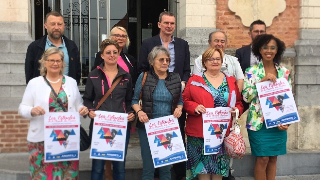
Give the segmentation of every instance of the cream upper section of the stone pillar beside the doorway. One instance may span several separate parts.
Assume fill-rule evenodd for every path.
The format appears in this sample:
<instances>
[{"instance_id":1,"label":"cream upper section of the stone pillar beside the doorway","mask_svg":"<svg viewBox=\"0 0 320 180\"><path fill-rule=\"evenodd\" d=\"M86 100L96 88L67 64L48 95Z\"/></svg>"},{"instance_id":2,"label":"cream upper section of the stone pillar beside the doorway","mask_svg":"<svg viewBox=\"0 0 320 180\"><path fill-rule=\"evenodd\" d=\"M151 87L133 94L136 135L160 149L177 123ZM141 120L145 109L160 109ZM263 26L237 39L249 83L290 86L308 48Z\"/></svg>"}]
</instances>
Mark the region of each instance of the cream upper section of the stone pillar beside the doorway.
<instances>
[{"instance_id":1,"label":"cream upper section of the stone pillar beside the doorway","mask_svg":"<svg viewBox=\"0 0 320 180\"><path fill-rule=\"evenodd\" d=\"M179 29L186 27L215 28L215 0L180 0Z\"/></svg>"}]
</instances>

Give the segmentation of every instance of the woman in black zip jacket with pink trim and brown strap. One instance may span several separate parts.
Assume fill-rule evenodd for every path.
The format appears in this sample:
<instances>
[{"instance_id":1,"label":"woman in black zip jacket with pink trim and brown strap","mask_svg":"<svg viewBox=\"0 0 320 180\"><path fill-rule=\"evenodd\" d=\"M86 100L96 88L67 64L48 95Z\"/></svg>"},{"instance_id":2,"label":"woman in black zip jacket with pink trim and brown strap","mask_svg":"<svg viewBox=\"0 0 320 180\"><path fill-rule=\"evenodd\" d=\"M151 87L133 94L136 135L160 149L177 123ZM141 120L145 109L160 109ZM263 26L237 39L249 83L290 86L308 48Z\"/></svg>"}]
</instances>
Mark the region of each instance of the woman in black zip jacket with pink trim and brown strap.
<instances>
[{"instance_id":1,"label":"woman in black zip jacket with pink trim and brown strap","mask_svg":"<svg viewBox=\"0 0 320 180\"><path fill-rule=\"evenodd\" d=\"M112 161L113 179L124 180L125 156L130 139L130 121L133 121L135 117L131 109L131 99L133 94L132 80L130 74L117 64L121 49L116 41L111 41L109 39L102 41L100 50L102 52L101 58L104 59L104 62L89 73L85 94L83 96L84 104L89 108L89 117L91 118L89 136L91 138L93 135L97 135L92 134L93 118L96 116L94 112L95 107L116 79L124 75L120 82L118 82L118 85L115 86L111 94L98 109L100 111L128 114L124 162ZM92 159L91 180L103 179L105 162L105 160Z\"/></svg>"}]
</instances>

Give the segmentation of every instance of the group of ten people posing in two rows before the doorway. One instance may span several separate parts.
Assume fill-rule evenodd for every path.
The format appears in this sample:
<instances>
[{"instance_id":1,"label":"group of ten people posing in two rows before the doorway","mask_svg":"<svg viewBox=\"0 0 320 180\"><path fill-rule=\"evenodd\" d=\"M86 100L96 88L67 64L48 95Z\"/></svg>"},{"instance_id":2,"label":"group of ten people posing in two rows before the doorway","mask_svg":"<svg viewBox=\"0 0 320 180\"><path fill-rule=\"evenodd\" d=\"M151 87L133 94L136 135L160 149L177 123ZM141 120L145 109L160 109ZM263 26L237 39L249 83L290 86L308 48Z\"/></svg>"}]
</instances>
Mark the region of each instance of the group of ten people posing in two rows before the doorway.
<instances>
[{"instance_id":1,"label":"group of ten people posing in two rows before the doorway","mask_svg":"<svg viewBox=\"0 0 320 180\"><path fill-rule=\"evenodd\" d=\"M60 13L48 13L45 19L48 35L31 43L26 55L27 87L19 112L31 119L27 137L30 179L78 179L79 161L44 163L43 115L65 111L88 115L91 138L97 104L118 77L121 77L120 82L98 110L127 114L124 156L130 138L130 122L137 119L142 180L171 179L171 165L155 170L144 127L145 122L166 115L178 118L183 142L187 135L184 146L188 161L173 164L176 180L232 178L232 161L223 145L218 154L204 155L202 127L202 114L207 108L230 107L231 92L236 95L235 106L230 111L232 117L240 116L249 108L246 128L252 155L257 157L255 180L264 180L265 176L267 180L275 178L277 156L286 153L288 125L266 128L255 84L275 82L277 78L286 78L290 83L291 78L289 71L279 65L285 45L266 34L263 21L256 20L250 25L252 43L237 49L236 57L224 54L227 45L224 32L210 33L209 48L195 60L192 77L188 42L173 36L176 27L173 13L160 14L160 33L142 42L137 66L134 58L124 53L124 47L130 43L126 30L116 26L109 39L100 45L96 68L89 73L83 97L77 87L81 72L78 49L73 41L63 36L64 27ZM124 180L125 158L124 162L93 159L91 180L102 180L105 166L109 171L111 163L111 178Z\"/></svg>"}]
</instances>

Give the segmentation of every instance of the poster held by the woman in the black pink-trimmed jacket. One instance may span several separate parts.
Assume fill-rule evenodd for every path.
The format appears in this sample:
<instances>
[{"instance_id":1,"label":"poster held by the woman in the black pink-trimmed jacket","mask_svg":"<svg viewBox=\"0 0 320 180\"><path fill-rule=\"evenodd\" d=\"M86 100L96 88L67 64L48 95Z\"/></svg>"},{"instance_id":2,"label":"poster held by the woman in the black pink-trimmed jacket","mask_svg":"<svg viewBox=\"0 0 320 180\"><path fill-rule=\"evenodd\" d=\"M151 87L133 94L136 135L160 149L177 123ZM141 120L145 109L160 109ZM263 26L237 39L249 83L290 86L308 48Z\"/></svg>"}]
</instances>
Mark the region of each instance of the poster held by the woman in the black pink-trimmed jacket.
<instances>
[{"instance_id":1,"label":"poster held by the woman in the black pink-trimmed jacket","mask_svg":"<svg viewBox=\"0 0 320 180\"><path fill-rule=\"evenodd\" d=\"M128 114L95 111L91 159L124 161L125 137Z\"/></svg>"}]
</instances>

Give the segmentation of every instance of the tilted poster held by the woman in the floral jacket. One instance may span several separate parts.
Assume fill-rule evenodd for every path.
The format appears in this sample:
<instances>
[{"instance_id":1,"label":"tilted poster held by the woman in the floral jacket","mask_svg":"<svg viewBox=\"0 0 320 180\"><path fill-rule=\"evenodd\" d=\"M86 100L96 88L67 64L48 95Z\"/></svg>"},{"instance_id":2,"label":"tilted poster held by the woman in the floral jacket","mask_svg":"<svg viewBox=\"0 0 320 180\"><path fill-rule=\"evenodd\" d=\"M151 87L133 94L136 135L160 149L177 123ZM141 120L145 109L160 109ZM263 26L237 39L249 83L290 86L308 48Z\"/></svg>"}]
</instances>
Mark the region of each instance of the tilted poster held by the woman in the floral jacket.
<instances>
[{"instance_id":1,"label":"tilted poster held by the woman in the floral jacket","mask_svg":"<svg viewBox=\"0 0 320 180\"><path fill-rule=\"evenodd\" d=\"M267 128L300 121L289 82L285 78L279 78L275 83L256 83L256 88Z\"/></svg>"}]
</instances>

